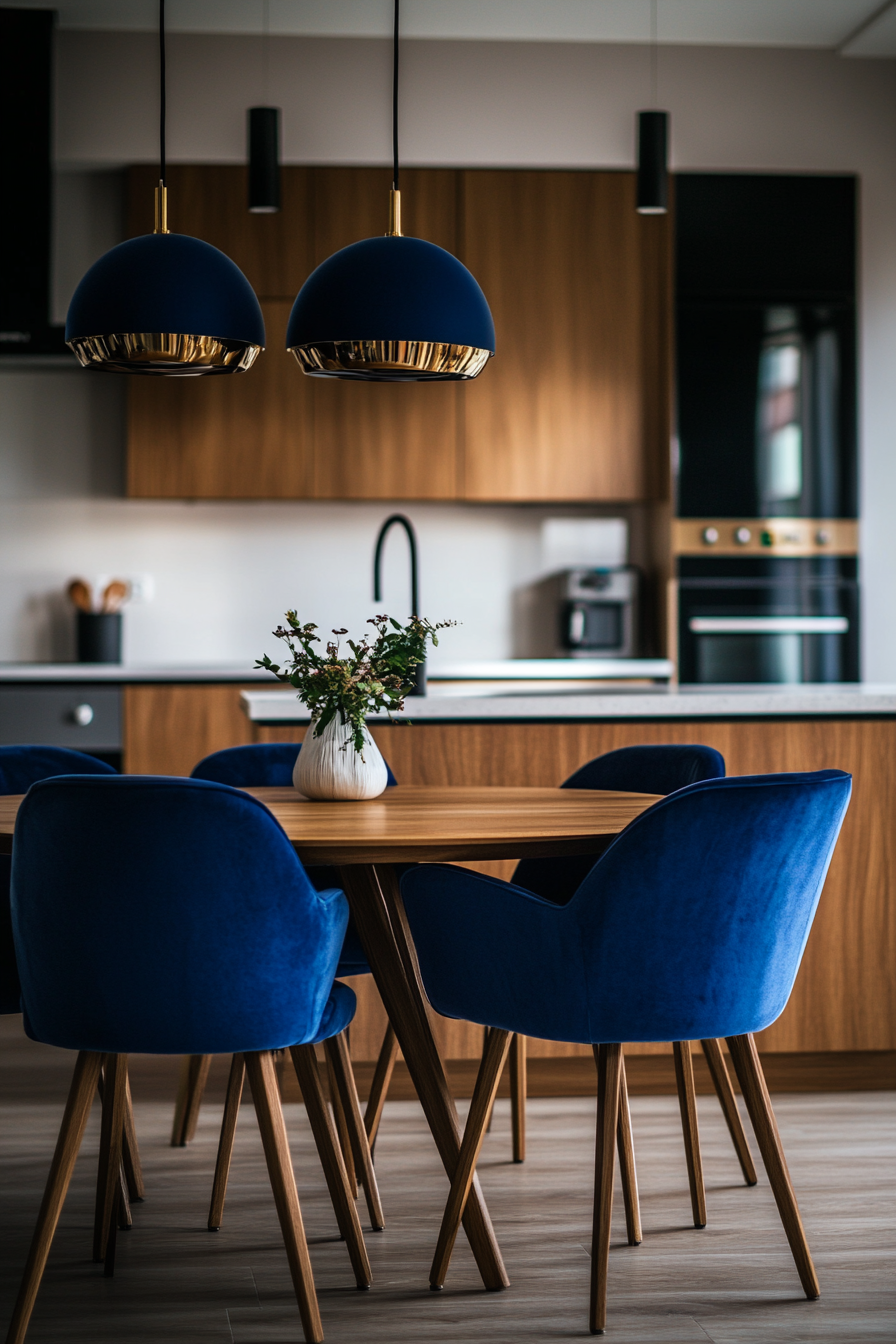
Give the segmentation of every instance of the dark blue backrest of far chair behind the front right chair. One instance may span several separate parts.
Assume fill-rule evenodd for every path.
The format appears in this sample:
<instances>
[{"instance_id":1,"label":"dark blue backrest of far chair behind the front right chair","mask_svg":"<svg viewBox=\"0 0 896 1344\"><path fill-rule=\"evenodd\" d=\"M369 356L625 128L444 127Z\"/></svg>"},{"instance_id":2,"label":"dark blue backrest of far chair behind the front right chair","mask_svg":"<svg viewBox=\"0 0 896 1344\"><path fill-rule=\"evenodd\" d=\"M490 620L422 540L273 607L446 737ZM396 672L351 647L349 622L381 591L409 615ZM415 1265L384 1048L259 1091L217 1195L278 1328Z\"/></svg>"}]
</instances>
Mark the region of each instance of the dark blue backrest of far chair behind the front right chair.
<instances>
[{"instance_id":1,"label":"dark blue backrest of far chair behind the front right chair","mask_svg":"<svg viewBox=\"0 0 896 1344\"><path fill-rule=\"evenodd\" d=\"M674 793L700 780L720 780L725 759L713 747L690 743L619 747L588 761L560 785L562 789L610 789L617 793ZM523 859L513 883L564 906L595 866L603 851L566 859Z\"/></svg>"}]
</instances>

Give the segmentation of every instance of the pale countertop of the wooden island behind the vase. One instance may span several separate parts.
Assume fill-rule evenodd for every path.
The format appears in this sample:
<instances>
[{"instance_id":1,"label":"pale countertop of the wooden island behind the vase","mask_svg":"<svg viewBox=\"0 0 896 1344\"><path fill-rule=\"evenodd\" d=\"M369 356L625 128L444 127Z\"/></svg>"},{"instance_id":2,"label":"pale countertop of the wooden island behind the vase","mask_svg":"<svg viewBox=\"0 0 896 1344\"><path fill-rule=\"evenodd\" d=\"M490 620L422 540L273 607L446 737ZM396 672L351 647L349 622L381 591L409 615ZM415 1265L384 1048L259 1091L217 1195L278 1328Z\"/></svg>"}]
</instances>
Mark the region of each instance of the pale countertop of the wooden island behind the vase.
<instances>
[{"instance_id":1,"label":"pale countertop of the wooden island behind the vase","mask_svg":"<svg viewBox=\"0 0 896 1344\"><path fill-rule=\"evenodd\" d=\"M243 691L243 710L253 723L308 723L310 714L294 691ZM896 718L896 685L686 685L426 696L406 700L396 720L418 723L551 720L551 719L793 719ZM386 723L387 715L371 716Z\"/></svg>"}]
</instances>

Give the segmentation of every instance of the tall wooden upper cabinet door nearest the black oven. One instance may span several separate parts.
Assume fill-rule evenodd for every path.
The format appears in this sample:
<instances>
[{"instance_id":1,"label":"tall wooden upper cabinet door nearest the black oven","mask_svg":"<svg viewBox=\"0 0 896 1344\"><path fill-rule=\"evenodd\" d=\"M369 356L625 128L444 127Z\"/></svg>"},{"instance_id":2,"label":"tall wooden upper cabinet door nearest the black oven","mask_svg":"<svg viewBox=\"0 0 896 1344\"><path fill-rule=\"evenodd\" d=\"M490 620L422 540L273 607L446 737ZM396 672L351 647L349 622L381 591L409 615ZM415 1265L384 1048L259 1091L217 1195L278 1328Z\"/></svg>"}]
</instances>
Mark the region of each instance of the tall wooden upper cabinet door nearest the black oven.
<instances>
[{"instance_id":1,"label":"tall wooden upper cabinet door nearest the black oven","mask_svg":"<svg viewBox=\"0 0 896 1344\"><path fill-rule=\"evenodd\" d=\"M463 259L497 332L496 358L463 387L466 499L654 493L647 402L666 398L652 348L665 328L645 290L646 223L634 173L463 173Z\"/></svg>"}]
</instances>

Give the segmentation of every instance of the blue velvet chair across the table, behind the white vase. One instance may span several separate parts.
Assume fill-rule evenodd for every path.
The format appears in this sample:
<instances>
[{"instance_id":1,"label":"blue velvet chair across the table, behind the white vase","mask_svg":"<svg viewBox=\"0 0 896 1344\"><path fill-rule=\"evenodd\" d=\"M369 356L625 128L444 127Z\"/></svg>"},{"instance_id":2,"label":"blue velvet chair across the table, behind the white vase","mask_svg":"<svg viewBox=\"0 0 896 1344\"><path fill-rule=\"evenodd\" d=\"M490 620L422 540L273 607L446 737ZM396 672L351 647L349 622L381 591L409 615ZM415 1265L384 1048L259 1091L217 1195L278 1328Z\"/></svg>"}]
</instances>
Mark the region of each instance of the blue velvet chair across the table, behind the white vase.
<instances>
[{"instance_id":1,"label":"blue velvet chair across the table, behind the white vase","mask_svg":"<svg viewBox=\"0 0 896 1344\"><path fill-rule=\"evenodd\" d=\"M286 789L293 785L293 769L296 766L296 757L300 751L301 745L296 742L261 742L251 746L226 747L223 751L214 751L211 755L204 757L199 765L193 766L191 778L212 780L216 784L230 784L236 789ZM387 788L391 788L396 784L396 780L388 763L386 765L386 770L388 775ZM309 867L306 871L312 883L318 888L339 886L339 876L334 868ZM336 974L365 976L369 974L369 970L371 968L367 964L361 941L349 917ZM376 1062L376 1068L373 1070L367 1110L364 1113L367 1142L371 1149L376 1142L376 1132L379 1129L396 1059L398 1039L390 1024L386 1028L383 1046ZM337 1079L333 1077L333 1067L329 1058L328 1068L330 1073L330 1093L334 1099L333 1109L340 1129L340 1137L344 1142L344 1154L351 1179L356 1160L351 1144L351 1124L343 1114L340 1090ZM207 1074L207 1058L192 1058L184 1062L177 1102L175 1105L175 1122L171 1136L172 1146L188 1144L193 1137ZM364 1165L361 1164L361 1172L363 1171Z\"/></svg>"}]
</instances>

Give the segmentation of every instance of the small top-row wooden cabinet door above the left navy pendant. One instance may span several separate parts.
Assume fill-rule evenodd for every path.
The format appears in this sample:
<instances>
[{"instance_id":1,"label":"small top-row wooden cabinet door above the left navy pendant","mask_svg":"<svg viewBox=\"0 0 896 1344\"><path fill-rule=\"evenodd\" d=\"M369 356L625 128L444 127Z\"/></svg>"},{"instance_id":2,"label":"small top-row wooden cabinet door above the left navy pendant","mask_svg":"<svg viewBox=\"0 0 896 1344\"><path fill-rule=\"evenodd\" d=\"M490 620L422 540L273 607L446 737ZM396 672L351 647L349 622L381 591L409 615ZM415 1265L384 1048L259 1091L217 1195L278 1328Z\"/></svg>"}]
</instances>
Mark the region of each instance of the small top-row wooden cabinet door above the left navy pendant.
<instances>
[{"instance_id":1,"label":"small top-row wooden cabinet door above the left navy pendant","mask_svg":"<svg viewBox=\"0 0 896 1344\"><path fill-rule=\"evenodd\" d=\"M220 247L235 261L259 298L296 298L313 267L310 168L282 168L282 210L250 215L249 169L219 164L168 168L168 224ZM153 223L154 167L132 168L128 180L128 235Z\"/></svg>"}]
</instances>

